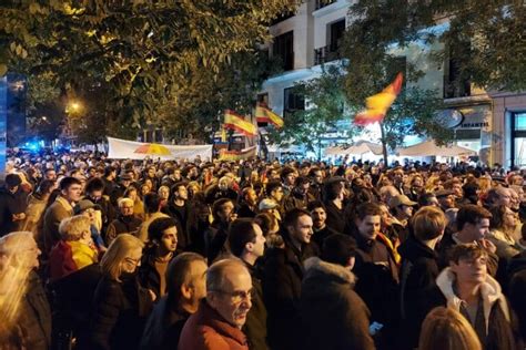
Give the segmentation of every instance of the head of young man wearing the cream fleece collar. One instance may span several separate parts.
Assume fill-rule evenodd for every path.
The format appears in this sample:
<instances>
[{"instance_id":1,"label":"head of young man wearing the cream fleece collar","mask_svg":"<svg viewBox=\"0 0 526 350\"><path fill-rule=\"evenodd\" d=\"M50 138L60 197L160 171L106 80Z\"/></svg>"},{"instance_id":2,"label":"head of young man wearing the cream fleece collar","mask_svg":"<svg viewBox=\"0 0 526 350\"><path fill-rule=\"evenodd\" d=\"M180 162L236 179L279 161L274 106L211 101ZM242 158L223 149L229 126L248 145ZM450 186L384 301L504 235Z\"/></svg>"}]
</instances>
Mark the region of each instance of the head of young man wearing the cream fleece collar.
<instances>
[{"instance_id":1,"label":"head of young man wearing the cream fleece collar","mask_svg":"<svg viewBox=\"0 0 526 350\"><path fill-rule=\"evenodd\" d=\"M449 267L458 285L476 286L487 277L487 253L475 244L456 245L449 256Z\"/></svg>"}]
</instances>

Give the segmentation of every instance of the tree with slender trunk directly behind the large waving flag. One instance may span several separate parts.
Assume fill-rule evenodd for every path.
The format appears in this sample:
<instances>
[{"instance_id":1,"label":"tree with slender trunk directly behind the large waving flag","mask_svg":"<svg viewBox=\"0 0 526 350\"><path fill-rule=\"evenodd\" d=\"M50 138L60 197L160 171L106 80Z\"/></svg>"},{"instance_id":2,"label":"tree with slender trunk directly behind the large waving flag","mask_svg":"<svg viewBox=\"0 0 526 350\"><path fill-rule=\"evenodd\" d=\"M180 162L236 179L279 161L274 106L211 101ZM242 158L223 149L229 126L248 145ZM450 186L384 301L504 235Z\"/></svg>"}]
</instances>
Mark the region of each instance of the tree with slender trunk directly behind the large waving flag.
<instances>
[{"instance_id":1,"label":"tree with slender trunk directly behind the large waving flag","mask_svg":"<svg viewBox=\"0 0 526 350\"><path fill-rule=\"evenodd\" d=\"M401 71L409 82L381 123L386 164L388 148L402 146L406 135L428 136L442 144L453 140L453 131L437 117L437 112L444 107L439 94L411 84L424 72L413 62L399 60L393 50L393 43L403 48L417 39L431 40L414 28L417 27L414 17L419 16L415 12L421 7L424 4L419 1L358 1L351 7L354 21L345 32L341 49L348 60L345 92L351 105L363 106L368 96L381 92ZM432 16L427 9L422 11ZM423 22L425 16L419 17Z\"/></svg>"}]
</instances>

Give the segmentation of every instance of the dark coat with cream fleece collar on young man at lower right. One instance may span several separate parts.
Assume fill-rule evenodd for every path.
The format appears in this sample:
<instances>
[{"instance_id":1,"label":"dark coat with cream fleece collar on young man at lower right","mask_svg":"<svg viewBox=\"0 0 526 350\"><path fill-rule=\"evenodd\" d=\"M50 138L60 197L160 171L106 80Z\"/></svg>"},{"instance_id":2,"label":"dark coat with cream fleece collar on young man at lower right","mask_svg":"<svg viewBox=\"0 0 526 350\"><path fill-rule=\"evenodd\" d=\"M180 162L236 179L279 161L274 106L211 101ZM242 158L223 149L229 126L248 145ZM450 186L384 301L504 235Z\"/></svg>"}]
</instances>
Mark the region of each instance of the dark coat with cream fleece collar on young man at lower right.
<instances>
[{"instance_id":1,"label":"dark coat with cream fleece collar on young man at lower right","mask_svg":"<svg viewBox=\"0 0 526 350\"><path fill-rule=\"evenodd\" d=\"M436 285L446 299L446 305L444 306L455 311L461 311L463 300L456 296L454 284L455 274L451 268L445 268L436 279ZM510 323L510 311L507 300L502 294L500 286L492 276L487 275L486 281L479 287L479 292L484 310L486 336L481 337L478 334L483 348L485 350L516 349Z\"/></svg>"}]
</instances>

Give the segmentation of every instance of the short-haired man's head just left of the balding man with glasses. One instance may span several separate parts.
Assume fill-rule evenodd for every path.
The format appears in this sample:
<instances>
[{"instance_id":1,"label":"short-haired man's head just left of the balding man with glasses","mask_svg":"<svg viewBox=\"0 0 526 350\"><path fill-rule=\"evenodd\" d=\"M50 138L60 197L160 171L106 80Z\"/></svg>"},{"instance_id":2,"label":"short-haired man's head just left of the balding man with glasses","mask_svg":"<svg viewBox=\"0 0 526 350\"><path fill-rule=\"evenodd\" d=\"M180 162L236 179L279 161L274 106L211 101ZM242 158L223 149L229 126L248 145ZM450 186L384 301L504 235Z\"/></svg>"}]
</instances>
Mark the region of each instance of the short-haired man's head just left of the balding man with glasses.
<instances>
[{"instance_id":1,"label":"short-haired man's head just left of the balding man with glasses","mask_svg":"<svg viewBox=\"0 0 526 350\"><path fill-rule=\"evenodd\" d=\"M169 298L196 310L199 301L206 297L206 261L199 254L182 253L173 258L166 269Z\"/></svg>"}]
</instances>

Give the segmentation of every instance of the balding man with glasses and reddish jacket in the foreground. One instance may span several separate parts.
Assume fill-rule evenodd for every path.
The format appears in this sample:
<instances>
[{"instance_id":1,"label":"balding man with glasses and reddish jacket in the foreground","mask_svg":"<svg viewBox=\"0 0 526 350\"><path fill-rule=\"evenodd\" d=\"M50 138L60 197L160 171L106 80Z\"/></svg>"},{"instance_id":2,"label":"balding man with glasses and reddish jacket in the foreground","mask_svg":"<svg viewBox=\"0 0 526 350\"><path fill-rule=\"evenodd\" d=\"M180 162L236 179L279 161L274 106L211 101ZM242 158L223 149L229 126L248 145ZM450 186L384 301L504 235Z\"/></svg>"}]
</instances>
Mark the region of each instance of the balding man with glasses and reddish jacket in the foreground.
<instances>
[{"instance_id":1,"label":"balding man with glasses and reddish jacket in the foreground","mask_svg":"<svg viewBox=\"0 0 526 350\"><path fill-rule=\"evenodd\" d=\"M252 279L240 260L213 264L206 274L206 298L183 327L178 349L247 350L241 328L252 307Z\"/></svg>"}]
</instances>

